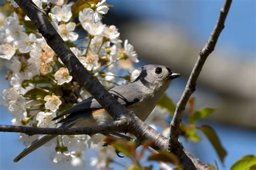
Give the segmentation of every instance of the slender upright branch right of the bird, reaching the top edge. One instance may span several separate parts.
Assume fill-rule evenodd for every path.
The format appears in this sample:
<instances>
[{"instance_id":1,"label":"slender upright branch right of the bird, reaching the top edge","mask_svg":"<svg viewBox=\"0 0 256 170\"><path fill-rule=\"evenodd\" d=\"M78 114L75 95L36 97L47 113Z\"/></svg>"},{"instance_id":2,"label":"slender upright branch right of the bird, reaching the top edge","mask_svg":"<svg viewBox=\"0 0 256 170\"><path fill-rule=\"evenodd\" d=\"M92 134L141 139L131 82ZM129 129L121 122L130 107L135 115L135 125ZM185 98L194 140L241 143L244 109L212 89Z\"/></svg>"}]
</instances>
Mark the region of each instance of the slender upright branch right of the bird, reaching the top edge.
<instances>
[{"instance_id":1,"label":"slender upright branch right of the bird, reaching the top edge","mask_svg":"<svg viewBox=\"0 0 256 170\"><path fill-rule=\"evenodd\" d=\"M198 60L196 62L196 65L194 65L194 68L190 74L190 78L187 81L186 88L183 92L183 95L181 96L177 108L174 112L174 116L171 122L171 131L169 136L169 149L172 152L176 152L175 150L177 147L179 147L179 124L181 121L181 118L183 116L183 111L185 110L186 104L188 102L188 99L196 90L196 82L198 79L198 76L201 72L201 69L204 66L204 63L208 57L208 55L211 54L211 52L214 50L214 47L217 43L217 40L219 38L219 35L221 31L224 29L224 22L227 17L228 10L230 9L232 0L226 0L224 3L223 8L220 10L219 18L217 20L217 23L211 33L211 36L209 37L207 43L205 44L204 48L201 49Z\"/></svg>"}]
</instances>

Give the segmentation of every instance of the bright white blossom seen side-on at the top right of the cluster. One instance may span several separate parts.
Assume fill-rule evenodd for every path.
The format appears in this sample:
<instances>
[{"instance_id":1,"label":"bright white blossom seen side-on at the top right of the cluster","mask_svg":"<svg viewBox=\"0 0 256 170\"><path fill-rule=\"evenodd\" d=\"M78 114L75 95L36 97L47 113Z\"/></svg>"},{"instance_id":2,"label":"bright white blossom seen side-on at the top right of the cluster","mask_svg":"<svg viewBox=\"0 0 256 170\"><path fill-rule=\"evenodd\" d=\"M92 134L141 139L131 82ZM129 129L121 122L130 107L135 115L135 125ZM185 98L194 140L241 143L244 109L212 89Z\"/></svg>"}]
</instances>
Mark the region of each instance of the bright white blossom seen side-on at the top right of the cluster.
<instances>
[{"instance_id":1,"label":"bright white blossom seen side-on at the top right of the cluster","mask_svg":"<svg viewBox=\"0 0 256 170\"><path fill-rule=\"evenodd\" d=\"M106 0L97 3L96 9L91 11L94 23L98 23L102 19L102 15L105 15L107 11L109 11L109 8L106 5L102 5L105 2Z\"/></svg>"}]
</instances>

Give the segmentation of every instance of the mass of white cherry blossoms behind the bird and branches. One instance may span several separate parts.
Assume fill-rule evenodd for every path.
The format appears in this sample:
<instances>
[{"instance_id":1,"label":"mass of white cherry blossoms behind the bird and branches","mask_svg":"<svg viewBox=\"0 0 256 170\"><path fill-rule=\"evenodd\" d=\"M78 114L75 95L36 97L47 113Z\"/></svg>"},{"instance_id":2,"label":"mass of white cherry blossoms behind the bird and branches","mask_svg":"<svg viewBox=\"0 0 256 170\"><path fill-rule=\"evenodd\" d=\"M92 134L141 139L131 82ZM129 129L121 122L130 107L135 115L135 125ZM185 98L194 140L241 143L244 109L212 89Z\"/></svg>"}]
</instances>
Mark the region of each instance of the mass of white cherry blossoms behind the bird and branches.
<instances>
[{"instance_id":1,"label":"mass of white cherry blossoms behind the bird and branches","mask_svg":"<svg viewBox=\"0 0 256 170\"><path fill-rule=\"evenodd\" d=\"M9 1L18 8L14 0ZM73 22L73 2L33 2L41 9L43 3L53 3L49 13L53 27L83 66L96 76L103 86L110 89L116 84L130 80L127 75L134 70L133 63L139 62L138 55L128 40L123 42L120 39L116 26L102 23L103 15L109 10L105 0L97 4L87 3L87 8L79 11L78 23ZM10 81L11 87L3 90L2 104L10 111L13 125L54 128L56 122L51 121L53 117L90 94L73 80L69 70L38 30L25 24L31 22L30 19L25 15L21 18L20 13L13 11L10 16L0 12L0 60L10 61L6 79ZM86 36L78 34L78 27L85 31ZM126 69L126 75L118 75L120 69ZM134 77L131 77L132 79ZM167 111L153 112L149 121L158 121L157 125L163 125ZM162 116L159 117L158 112ZM150 124L156 128L156 125ZM28 145L37 137L21 134L19 140ZM106 168L116 153L112 147L102 147L100 141L103 137L102 134L59 136L52 142L55 143L56 151L51 154L51 159L53 162L71 161L73 166L82 166L82 155L86 148L94 148L99 153L99 158L92 158L91 165Z\"/></svg>"}]
</instances>

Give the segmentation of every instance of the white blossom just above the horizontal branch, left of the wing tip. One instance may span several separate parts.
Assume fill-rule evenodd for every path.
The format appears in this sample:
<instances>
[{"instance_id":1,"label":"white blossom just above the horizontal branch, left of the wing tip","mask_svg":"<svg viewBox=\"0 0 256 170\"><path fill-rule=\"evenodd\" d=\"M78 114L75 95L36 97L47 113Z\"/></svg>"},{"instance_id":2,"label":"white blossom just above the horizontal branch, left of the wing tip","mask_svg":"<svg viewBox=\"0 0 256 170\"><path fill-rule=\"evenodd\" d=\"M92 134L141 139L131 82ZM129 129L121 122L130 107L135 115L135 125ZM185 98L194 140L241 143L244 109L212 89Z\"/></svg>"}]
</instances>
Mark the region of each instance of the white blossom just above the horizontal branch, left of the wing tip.
<instances>
[{"instance_id":1,"label":"white blossom just above the horizontal branch, left of the wing tip","mask_svg":"<svg viewBox=\"0 0 256 170\"><path fill-rule=\"evenodd\" d=\"M54 128L55 122L51 121L54 117L56 117L56 115L53 112L38 112L36 116L36 120L38 121L37 126L41 128Z\"/></svg>"}]
</instances>

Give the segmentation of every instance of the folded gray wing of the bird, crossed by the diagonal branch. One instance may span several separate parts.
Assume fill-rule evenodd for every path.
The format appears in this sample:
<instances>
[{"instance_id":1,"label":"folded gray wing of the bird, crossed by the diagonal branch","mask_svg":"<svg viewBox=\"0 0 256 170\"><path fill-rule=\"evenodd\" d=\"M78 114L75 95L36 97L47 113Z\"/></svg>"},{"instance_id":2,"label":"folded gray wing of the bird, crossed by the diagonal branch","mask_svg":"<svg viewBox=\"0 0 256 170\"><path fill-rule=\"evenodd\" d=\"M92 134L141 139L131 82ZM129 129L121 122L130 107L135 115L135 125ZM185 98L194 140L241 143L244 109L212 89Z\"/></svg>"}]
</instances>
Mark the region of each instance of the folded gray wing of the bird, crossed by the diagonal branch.
<instances>
[{"instance_id":1,"label":"folded gray wing of the bird, crossed by the diagonal branch","mask_svg":"<svg viewBox=\"0 0 256 170\"><path fill-rule=\"evenodd\" d=\"M112 94L120 104L125 105L126 107L133 103L138 103L142 99L142 93L140 93L140 91L138 90L133 90L132 92L129 91L130 84L131 83L123 84L109 90L109 93ZM101 108L103 108L102 105L100 105L98 101L95 100L95 98L90 97L83 100L80 103L77 103L70 109L64 111L62 114L56 116L55 118L52 119L52 121L55 121L56 119L71 113L86 112L86 111L97 110Z\"/></svg>"}]
</instances>

